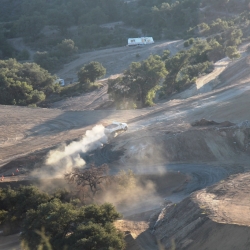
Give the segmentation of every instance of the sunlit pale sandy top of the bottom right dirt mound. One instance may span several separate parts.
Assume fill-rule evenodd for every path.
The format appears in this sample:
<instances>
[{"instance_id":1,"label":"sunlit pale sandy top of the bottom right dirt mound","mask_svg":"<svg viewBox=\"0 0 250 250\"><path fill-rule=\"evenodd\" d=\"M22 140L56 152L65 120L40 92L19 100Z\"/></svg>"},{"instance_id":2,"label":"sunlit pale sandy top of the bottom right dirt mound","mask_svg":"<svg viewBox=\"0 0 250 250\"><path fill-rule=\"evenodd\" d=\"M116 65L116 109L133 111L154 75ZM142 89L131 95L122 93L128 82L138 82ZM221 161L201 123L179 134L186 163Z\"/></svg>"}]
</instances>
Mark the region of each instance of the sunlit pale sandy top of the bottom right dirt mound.
<instances>
[{"instance_id":1,"label":"sunlit pale sandy top of the bottom right dirt mound","mask_svg":"<svg viewBox=\"0 0 250 250\"><path fill-rule=\"evenodd\" d=\"M240 174L197 192L193 198L217 223L250 226L250 174Z\"/></svg>"}]
</instances>

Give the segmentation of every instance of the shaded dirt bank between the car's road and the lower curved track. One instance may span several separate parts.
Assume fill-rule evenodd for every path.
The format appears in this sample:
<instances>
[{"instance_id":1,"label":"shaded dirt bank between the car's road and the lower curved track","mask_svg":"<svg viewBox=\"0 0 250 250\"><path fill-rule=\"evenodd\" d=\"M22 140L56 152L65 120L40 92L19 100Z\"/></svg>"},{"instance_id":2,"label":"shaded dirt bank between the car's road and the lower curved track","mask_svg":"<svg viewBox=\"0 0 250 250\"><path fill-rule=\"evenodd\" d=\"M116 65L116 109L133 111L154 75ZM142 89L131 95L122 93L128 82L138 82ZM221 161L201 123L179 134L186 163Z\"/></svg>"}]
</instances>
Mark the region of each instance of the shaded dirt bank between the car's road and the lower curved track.
<instances>
[{"instance_id":1,"label":"shaded dirt bank between the car's road and the lower curved track","mask_svg":"<svg viewBox=\"0 0 250 250\"><path fill-rule=\"evenodd\" d=\"M250 155L250 128L224 122L177 131L157 125L114 138L92 155L98 164L155 165L178 162L241 162ZM247 125L248 126L248 125Z\"/></svg>"}]
</instances>

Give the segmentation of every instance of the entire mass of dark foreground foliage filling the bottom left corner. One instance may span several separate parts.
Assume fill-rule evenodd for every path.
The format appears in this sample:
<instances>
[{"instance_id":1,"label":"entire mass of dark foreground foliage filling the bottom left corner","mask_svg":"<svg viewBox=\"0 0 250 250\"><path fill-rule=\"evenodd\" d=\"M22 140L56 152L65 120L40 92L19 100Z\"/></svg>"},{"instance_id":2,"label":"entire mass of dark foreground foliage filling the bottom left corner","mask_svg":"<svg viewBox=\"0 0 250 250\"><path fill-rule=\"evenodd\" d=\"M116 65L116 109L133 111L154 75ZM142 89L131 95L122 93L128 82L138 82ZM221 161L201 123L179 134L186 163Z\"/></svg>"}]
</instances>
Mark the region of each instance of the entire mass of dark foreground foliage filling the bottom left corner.
<instances>
[{"instance_id":1,"label":"entire mass of dark foreground foliage filling the bottom left corner","mask_svg":"<svg viewBox=\"0 0 250 250\"><path fill-rule=\"evenodd\" d=\"M21 239L27 249L122 250L124 235L113 225L119 218L113 205L80 206L65 190L48 195L34 186L0 189L4 233L15 233L22 224Z\"/></svg>"}]
</instances>

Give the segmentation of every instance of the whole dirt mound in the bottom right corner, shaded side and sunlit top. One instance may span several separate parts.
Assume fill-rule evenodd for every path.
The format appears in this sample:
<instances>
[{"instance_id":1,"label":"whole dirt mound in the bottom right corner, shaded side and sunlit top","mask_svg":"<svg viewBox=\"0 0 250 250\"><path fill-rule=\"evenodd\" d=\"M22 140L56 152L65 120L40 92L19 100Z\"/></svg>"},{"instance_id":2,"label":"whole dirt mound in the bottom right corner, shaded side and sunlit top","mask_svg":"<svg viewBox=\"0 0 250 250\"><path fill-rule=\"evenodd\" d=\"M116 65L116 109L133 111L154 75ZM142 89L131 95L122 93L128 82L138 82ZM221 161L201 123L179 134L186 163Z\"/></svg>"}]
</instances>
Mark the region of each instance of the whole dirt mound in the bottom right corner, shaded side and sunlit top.
<instances>
[{"instance_id":1,"label":"whole dirt mound in the bottom right corner, shaded side and sunlit top","mask_svg":"<svg viewBox=\"0 0 250 250\"><path fill-rule=\"evenodd\" d=\"M250 248L250 174L239 174L166 206L153 230L163 249Z\"/></svg>"}]
</instances>

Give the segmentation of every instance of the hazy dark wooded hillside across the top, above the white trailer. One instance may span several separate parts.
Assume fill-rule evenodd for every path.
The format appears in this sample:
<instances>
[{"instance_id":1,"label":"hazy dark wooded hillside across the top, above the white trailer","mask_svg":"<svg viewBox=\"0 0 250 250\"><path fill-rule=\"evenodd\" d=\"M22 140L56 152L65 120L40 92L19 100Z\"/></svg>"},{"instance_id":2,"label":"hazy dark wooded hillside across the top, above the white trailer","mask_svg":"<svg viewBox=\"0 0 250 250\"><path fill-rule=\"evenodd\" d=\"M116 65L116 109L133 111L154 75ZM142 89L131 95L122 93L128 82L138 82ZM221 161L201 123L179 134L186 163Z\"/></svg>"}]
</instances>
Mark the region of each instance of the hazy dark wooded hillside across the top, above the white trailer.
<instances>
[{"instance_id":1,"label":"hazy dark wooded hillside across the top, above the white trailer","mask_svg":"<svg viewBox=\"0 0 250 250\"><path fill-rule=\"evenodd\" d=\"M240 13L247 7L248 1L237 4L237 0L152 0L129 3L123 0L2 0L0 20L8 21L4 24L5 37L22 35L26 40L28 38L29 42L33 41L34 46L40 44L41 51L51 49L47 41L43 43L44 35L41 30L45 26L53 26L60 31L52 37L57 36L61 40L65 37L71 38L80 49L92 49L125 45L126 38L133 37L129 35L129 30L122 26L111 29L100 27L108 22L123 21L127 25L142 29L145 35L155 39L177 39L185 38L187 30L190 36L197 33L208 35L225 32L233 26L237 28L236 23L249 20L247 14L231 18L231 21L217 19L208 23L205 23L206 16L211 16L210 12L213 10L222 10L227 17L230 11ZM71 33L69 29L74 25L79 27L77 34ZM46 39L50 40L52 37ZM192 44L191 41L189 44ZM234 45L236 44L230 43L227 46Z\"/></svg>"}]
</instances>

